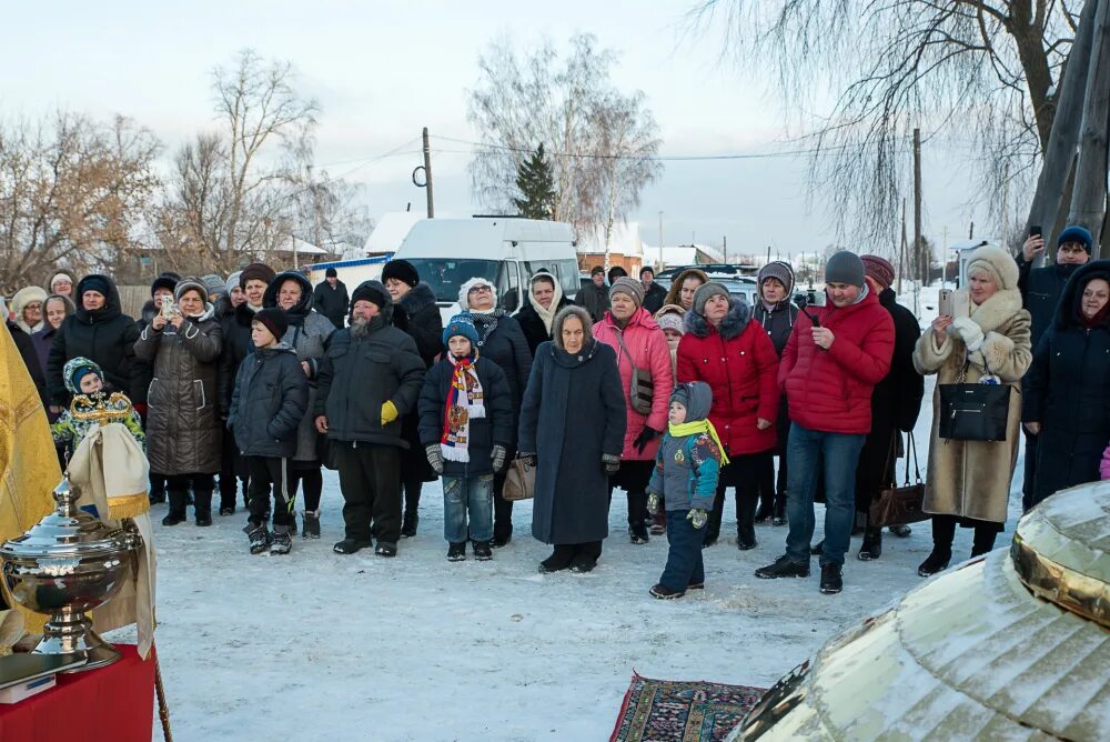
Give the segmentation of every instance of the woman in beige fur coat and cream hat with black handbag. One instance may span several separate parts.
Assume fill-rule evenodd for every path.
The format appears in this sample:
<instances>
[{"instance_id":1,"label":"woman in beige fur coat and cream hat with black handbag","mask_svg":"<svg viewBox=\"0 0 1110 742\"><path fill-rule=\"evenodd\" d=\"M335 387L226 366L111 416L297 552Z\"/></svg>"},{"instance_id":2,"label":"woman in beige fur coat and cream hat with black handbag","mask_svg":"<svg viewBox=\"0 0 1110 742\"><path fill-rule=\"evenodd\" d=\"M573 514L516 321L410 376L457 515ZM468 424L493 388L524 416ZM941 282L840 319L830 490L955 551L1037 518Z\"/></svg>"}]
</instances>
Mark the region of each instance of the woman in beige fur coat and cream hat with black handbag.
<instances>
[{"instance_id":1,"label":"woman in beige fur coat and cream hat with black handbag","mask_svg":"<svg viewBox=\"0 0 1110 742\"><path fill-rule=\"evenodd\" d=\"M988 373L1013 387L1005 441L941 440L940 393L932 394L932 434L925 511L932 514L932 553L918 568L928 576L948 568L956 525L975 529L971 556L995 548L1006 523L1010 480L1018 454L1021 377L1032 360L1029 312L1021 308L1018 265L1005 250L982 247L971 253L968 288L956 292L951 315L938 317L914 350L921 374L937 385L975 383ZM989 369L989 371L988 371Z\"/></svg>"}]
</instances>

